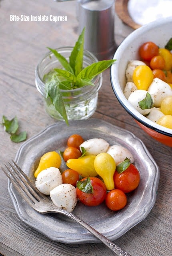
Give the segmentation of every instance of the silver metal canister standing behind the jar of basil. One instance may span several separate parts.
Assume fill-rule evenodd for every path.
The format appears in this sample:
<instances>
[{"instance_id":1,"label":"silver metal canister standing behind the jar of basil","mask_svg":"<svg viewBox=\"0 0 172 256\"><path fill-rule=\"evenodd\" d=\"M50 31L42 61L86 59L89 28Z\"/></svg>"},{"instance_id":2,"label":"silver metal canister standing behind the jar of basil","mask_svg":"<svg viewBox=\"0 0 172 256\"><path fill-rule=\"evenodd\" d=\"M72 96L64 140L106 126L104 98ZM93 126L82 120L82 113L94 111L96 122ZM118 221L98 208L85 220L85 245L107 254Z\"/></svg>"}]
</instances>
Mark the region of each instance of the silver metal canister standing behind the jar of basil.
<instances>
[{"instance_id":1,"label":"silver metal canister standing behind the jar of basil","mask_svg":"<svg viewBox=\"0 0 172 256\"><path fill-rule=\"evenodd\" d=\"M114 41L114 0L77 0L78 32L86 27L84 49L98 60L111 59L117 48Z\"/></svg>"}]
</instances>

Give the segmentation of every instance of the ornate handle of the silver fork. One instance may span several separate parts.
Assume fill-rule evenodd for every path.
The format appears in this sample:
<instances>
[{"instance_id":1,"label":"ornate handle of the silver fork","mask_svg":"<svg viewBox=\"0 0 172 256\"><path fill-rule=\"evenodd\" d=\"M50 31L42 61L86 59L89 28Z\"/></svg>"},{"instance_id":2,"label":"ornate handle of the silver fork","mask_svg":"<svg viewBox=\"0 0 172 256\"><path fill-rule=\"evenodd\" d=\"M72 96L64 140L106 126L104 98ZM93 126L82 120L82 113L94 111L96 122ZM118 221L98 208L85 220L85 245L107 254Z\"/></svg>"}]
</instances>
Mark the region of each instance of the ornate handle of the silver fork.
<instances>
[{"instance_id":1,"label":"ornate handle of the silver fork","mask_svg":"<svg viewBox=\"0 0 172 256\"><path fill-rule=\"evenodd\" d=\"M59 209L57 211L56 211L56 209L53 209L51 212L59 212ZM66 210L62 210L62 211L60 210L60 212L64 215L68 216L69 218L71 218L72 220L74 220L75 222L80 224L81 226L83 226L86 230L88 230L90 233L92 233L94 236L96 236L100 241L102 241L106 246L108 246L113 252L115 252L116 255L118 255L118 256L131 256L131 254L122 250L118 245L116 245L112 241L108 240L108 238L103 236L97 230L92 228L92 226L90 226L88 223L84 222L83 220L81 220L77 216L75 216L73 213L67 212Z\"/></svg>"}]
</instances>

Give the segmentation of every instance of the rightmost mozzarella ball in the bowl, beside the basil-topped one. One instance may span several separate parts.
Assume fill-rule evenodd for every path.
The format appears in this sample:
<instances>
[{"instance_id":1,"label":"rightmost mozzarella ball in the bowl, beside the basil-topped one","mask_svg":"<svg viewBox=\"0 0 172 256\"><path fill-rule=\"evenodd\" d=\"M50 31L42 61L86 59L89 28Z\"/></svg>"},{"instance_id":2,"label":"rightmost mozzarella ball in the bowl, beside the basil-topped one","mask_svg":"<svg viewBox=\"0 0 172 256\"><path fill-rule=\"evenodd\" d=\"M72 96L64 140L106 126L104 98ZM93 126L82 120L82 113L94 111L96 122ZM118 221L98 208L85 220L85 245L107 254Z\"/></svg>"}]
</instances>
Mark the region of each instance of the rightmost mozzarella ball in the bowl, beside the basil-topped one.
<instances>
[{"instance_id":1,"label":"rightmost mozzarella ball in the bowl, beside the basil-topped one","mask_svg":"<svg viewBox=\"0 0 172 256\"><path fill-rule=\"evenodd\" d=\"M167 96L172 96L172 88L166 82L159 78L154 78L152 84L148 88L148 92L154 97L156 108L160 107L161 102Z\"/></svg>"}]
</instances>

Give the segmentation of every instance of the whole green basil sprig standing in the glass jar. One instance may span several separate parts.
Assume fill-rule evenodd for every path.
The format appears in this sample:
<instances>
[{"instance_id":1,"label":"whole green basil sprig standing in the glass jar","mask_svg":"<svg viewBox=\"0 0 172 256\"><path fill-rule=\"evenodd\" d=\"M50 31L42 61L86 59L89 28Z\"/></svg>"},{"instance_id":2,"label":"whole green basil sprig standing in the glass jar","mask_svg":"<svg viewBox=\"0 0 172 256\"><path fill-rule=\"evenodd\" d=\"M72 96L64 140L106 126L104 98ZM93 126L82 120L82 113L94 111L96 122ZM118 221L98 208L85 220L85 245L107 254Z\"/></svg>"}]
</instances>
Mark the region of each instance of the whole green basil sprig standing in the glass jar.
<instances>
[{"instance_id":1,"label":"whole green basil sprig standing in the glass jar","mask_svg":"<svg viewBox=\"0 0 172 256\"><path fill-rule=\"evenodd\" d=\"M115 60L103 60L93 63L83 69L84 33L85 28L82 30L82 33L78 37L78 40L72 49L69 62L55 49L48 48L56 56L56 58L58 58L59 62L62 64L65 70L54 68L56 74L54 71L50 71L44 76L45 96L46 98L50 98L52 104L61 114L67 124L68 118L62 92L60 90L72 90L87 85L94 86L92 79L109 68L115 62Z\"/></svg>"}]
</instances>

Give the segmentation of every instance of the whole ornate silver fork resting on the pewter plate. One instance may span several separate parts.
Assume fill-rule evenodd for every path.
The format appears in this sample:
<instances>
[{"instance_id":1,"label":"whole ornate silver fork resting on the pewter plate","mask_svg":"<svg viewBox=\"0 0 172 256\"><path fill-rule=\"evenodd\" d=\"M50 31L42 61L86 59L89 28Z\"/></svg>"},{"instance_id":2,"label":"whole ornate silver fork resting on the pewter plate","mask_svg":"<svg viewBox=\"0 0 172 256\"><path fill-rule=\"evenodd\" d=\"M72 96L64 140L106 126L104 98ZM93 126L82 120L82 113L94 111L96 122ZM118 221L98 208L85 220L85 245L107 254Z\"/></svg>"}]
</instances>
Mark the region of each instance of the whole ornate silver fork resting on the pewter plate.
<instances>
[{"instance_id":1,"label":"whole ornate silver fork resting on the pewter plate","mask_svg":"<svg viewBox=\"0 0 172 256\"><path fill-rule=\"evenodd\" d=\"M122 250L118 245L114 244L112 241L108 240L105 236L99 233L97 230L92 228L89 224L66 210L57 208L54 203L47 197L44 196L35 185L30 181L26 174L21 170L21 168L12 160L12 163L8 161L8 164L4 164L6 168L1 166L6 176L12 182L16 190L20 193L22 198L37 212L42 214L48 212L58 212L63 215L68 216L72 220L76 221L78 224L83 226L86 230L96 236L100 241L102 241L106 246L108 246L113 252L118 256L131 256L128 252Z\"/></svg>"}]
</instances>

